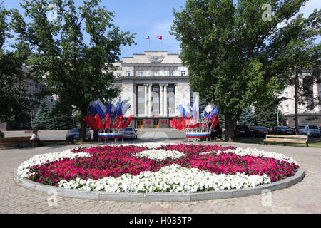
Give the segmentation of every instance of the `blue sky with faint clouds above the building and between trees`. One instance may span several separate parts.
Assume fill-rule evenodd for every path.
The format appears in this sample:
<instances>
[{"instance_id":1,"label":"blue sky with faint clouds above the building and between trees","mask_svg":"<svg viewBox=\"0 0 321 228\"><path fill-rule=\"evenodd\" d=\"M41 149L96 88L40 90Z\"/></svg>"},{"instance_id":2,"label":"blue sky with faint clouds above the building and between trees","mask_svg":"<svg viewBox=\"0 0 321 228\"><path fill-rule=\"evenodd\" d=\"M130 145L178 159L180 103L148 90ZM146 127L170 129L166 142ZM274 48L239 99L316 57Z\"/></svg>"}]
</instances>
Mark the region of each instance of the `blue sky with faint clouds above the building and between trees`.
<instances>
[{"instance_id":1,"label":"blue sky with faint clouds above the building and between trees","mask_svg":"<svg viewBox=\"0 0 321 228\"><path fill-rule=\"evenodd\" d=\"M22 0L3 0L6 9L19 9ZM76 4L82 1L75 0ZM113 23L122 31L136 33L136 46L122 47L121 57L130 57L133 53L143 51L168 51L168 53L180 53L178 41L170 36L170 26L173 22L173 9L180 11L185 5L185 0L102 0L101 4L108 11L115 12ZM309 15L313 9L321 8L320 0L310 0L302 7L300 13ZM146 40L150 36L151 40ZM157 36L163 36L163 41Z\"/></svg>"}]
</instances>

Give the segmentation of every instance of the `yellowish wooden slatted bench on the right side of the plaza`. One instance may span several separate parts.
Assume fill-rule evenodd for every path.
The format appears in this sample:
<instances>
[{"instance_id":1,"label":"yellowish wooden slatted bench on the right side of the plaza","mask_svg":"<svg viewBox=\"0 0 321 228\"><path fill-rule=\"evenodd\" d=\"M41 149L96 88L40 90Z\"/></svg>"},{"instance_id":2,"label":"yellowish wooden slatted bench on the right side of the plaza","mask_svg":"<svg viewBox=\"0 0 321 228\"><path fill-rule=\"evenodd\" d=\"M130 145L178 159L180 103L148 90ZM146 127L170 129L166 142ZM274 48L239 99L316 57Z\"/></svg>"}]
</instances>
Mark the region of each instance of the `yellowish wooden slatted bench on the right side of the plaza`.
<instances>
[{"instance_id":1,"label":"yellowish wooden slatted bench on the right side of the plaza","mask_svg":"<svg viewBox=\"0 0 321 228\"><path fill-rule=\"evenodd\" d=\"M283 142L286 143L305 143L305 147L309 147L307 135L266 135L263 144L266 145L267 142Z\"/></svg>"}]
</instances>

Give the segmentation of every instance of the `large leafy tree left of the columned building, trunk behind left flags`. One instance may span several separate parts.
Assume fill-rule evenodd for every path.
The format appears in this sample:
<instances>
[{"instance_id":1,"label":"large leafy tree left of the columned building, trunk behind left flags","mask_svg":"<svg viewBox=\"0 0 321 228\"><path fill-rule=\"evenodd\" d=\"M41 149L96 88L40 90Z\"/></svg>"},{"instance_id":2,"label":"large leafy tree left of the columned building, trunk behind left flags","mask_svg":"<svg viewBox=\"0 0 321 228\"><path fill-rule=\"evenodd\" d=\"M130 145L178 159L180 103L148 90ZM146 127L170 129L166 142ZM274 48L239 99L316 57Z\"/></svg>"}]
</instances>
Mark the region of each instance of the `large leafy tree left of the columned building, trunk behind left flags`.
<instances>
[{"instance_id":1,"label":"large leafy tree left of the columned building, trunk behind left flags","mask_svg":"<svg viewBox=\"0 0 321 228\"><path fill-rule=\"evenodd\" d=\"M34 75L46 75L51 93L58 95L66 108L80 110L82 117L88 115L92 100L118 95L120 89L113 86L113 63L119 60L121 46L134 43L133 35L111 23L113 12L100 3L83 1L77 9L70 0L24 0L21 7L30 22L27 24L19 11L14 11L11 21L19 39L34 48L27 60ZM54 11L54 17L47 18L48 11ZM85 133L86 123L81 120L81 142Z\"/></svg>"}]
</instances>

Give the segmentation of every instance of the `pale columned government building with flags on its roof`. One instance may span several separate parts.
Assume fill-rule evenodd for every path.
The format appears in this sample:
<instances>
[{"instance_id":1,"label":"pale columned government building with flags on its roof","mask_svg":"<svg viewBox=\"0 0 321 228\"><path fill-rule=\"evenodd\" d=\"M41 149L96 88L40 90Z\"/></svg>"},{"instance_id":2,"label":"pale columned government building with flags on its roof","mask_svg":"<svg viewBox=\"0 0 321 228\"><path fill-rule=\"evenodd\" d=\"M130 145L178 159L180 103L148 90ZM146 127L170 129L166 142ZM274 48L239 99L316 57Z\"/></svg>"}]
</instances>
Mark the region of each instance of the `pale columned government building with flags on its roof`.
<instances>
[{"instance_id":1,"label":"pale columned government building with flags on its roof","mask_svg":"<svg viewBox=\"0 0 321 228\"><path fill-rule=\"evenodd\" d=\"M170 128L170 120L179 116L180 100L185 98L193 105L188 68L178 54L145 51L123 57L114 66L121 100L131 104L125 117L135 116L131 123L135 128Z\"/></svg>"}]
</instances>

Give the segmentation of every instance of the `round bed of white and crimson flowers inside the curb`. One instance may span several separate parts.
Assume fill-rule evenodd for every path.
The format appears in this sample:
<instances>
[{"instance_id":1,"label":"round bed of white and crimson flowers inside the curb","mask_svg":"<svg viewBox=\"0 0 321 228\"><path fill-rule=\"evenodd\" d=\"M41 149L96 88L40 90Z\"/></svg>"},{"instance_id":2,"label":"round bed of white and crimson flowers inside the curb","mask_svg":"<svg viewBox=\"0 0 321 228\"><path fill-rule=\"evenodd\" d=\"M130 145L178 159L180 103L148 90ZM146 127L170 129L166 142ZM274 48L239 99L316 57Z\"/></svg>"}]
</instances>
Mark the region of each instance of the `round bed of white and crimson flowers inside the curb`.
<instances>
[{"instance_id":1,"label":"round bed of white and crimson flowers inside the curb","mask_svg":"<svg viewBox=\"0 0 321 228\"><path fill-rule=\"evenodd\" d=\"M198 192L269 184L297 162L257 149L145 144L76 148L36 155L17 175L44 185L105 192Z\"/></svg>"}]
</instances>

